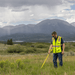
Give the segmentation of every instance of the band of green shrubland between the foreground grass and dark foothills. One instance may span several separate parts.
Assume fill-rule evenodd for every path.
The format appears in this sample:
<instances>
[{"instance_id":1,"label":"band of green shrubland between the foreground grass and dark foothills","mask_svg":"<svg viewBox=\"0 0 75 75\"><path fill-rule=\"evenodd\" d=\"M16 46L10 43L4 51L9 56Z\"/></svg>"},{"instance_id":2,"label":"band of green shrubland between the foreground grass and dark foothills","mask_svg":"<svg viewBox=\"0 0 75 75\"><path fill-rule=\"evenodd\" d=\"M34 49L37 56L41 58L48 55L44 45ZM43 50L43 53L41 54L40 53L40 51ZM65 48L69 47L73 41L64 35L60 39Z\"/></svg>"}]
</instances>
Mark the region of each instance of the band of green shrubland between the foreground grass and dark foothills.
<instances>
[{"instance_id":1,"label":"band of green shrubland between the foreground grass and dark foothills","mask_svg":"<svg viewBox=\"0 0 75 75\"><path fill-rule=\"evenodd\" d=\"M30 53L47 53L50 43L21 43L14 45L6 45L0 43L0 55L12 54L30 54ZM75 43L65 43L65 52L75 52Z\"/></svg>"}]
</instances>

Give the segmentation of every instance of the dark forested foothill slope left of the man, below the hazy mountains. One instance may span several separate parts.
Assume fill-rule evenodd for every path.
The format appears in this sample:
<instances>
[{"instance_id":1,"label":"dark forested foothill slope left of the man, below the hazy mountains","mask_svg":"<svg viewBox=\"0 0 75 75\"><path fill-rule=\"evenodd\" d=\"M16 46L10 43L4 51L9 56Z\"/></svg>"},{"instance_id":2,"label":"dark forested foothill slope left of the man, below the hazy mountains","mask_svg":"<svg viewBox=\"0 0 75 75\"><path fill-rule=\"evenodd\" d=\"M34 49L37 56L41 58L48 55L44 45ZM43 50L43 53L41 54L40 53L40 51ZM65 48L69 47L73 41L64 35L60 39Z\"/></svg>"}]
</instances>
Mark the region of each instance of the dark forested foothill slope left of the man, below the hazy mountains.
<instances>
[{"instance_id":1,"label":"dark forested foothill slope left of the man, below the hazy mountains","mask_svg":"<svg viewBox=\"0 0 75 75\"><path fill-rule=\"evenodd\" d=\"M51 35L41 33L36 34L17 33L0 37L0 41L7 41L8 39L13 39L13 41L25 41L25 42L50 42Z\"/></svg>"}]
</instances>

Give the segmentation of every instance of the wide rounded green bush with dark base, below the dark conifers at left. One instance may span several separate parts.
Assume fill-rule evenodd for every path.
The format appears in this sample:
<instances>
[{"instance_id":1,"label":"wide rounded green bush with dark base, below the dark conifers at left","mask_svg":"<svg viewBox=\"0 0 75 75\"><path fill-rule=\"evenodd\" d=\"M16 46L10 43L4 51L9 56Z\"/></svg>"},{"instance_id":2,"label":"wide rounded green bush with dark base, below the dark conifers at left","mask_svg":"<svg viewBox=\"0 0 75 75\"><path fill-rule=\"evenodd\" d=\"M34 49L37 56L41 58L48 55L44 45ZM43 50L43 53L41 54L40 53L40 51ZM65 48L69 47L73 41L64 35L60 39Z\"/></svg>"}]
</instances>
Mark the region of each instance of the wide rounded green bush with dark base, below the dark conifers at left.
<instances>
[{"instance_id":1,"label":"wide rounded green bush with dark base, below the dark conifers at left","mask_svg":"<svg viewBox=\"0 0 75 75\"><path fill-rule=\"evenodd\" d=\"M24 48L21 45L11 46L11 47L8 47L7 49L8 53L20 53L23 51L24 51Z\"/></svg>"}]
</instances>

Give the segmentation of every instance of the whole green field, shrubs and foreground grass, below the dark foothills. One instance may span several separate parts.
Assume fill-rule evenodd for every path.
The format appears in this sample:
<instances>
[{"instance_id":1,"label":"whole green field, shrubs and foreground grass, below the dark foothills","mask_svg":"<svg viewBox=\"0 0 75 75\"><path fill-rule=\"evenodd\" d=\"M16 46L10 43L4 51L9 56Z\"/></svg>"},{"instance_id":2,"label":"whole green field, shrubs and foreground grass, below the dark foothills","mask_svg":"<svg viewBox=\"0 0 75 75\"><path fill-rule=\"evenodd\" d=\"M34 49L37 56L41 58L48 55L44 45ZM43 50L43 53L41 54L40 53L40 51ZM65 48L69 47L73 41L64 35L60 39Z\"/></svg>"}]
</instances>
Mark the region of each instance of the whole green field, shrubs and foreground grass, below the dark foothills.
<instances>
[{"instance_id":1,"label":"whole green field, shrubs and foreground grass, below the dark foothills","mask_svg":"<svg viewBox=\"0 0 75 75\"><path fill-rule=\"evenodd\" d=\"M65 53L75 52L75 43L65 43ZM0 75L75 75L75 56L63 56L63 66L54 68L52 53L43 68L50 43L0 44Z\"/></svg>"}]
</instances>

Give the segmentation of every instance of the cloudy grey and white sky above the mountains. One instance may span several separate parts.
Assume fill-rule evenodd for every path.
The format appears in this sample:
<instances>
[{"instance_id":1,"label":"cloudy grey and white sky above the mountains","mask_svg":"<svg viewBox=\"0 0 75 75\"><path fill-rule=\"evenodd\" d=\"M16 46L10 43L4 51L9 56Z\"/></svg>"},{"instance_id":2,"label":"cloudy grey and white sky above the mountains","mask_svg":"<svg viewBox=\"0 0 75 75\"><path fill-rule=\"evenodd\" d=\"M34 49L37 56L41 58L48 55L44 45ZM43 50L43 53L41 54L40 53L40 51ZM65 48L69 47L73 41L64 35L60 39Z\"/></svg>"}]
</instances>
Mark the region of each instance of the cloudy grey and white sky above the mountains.
<instances>
[{"instance_id":1,"label":"cloudy grey and white sky above the mountains","mask_svg":"<svg viewBox=\"0 0 75 75\"><path fill-rule=\"evenodd\" d=\"M75 0L0 0L0 27L45 19L75 22Z\"/></svg>"}]
</instances>

